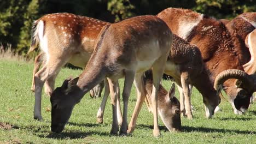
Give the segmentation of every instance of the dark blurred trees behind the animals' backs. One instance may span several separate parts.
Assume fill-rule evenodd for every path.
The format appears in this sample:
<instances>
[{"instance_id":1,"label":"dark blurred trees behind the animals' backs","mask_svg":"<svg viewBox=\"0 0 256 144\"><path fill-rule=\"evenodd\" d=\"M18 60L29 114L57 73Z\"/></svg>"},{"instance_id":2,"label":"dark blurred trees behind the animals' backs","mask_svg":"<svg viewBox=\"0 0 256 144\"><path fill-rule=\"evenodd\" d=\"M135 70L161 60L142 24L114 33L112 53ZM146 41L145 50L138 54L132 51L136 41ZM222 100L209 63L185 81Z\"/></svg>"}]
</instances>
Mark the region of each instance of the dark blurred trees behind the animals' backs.
<instances>
[{"instance_id":1,"label":"dark blurred trees behind the animals' backs","mask_svg":"<svg viewBox=\"0 0 256 144\"><path fill-rule=\"evenodd\" d=\"M136 15L156 15L168 7L193 9L217 19L256 11L255 0L0 0L0 43L25 55L33 20L49 13L73 13L115 22Z\"/></svg>"}]
</instances>

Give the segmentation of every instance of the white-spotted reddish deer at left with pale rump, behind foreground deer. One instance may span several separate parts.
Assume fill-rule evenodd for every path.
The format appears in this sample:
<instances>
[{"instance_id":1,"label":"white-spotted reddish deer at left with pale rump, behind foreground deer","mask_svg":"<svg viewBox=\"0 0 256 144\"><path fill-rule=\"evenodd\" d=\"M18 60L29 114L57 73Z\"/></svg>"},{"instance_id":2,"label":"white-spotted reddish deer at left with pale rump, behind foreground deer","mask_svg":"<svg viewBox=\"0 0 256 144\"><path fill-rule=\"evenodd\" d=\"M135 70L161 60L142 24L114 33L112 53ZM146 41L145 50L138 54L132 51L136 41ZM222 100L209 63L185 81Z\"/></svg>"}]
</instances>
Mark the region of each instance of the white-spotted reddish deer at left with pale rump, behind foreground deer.
<instances>
[{"instance_id":1,"label":"white-spotted reddish deer at left with pale rump, behind foreground deer","mask_svg":"<svg viewBox=\"0 0 256 144\"><path fill-rule=\"evenodd\" d=\"M32 91L35 93L34 118L42 120L42 87L51 94L61 67L66 63L84 68L94 51L101 28L108 22L69 13L48 14L34 21L30 50L39 44L41 53L34 60ZM39 70L40 65L43 65Z\"/></svg>"}]
</instances>

